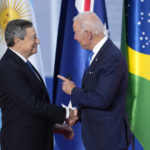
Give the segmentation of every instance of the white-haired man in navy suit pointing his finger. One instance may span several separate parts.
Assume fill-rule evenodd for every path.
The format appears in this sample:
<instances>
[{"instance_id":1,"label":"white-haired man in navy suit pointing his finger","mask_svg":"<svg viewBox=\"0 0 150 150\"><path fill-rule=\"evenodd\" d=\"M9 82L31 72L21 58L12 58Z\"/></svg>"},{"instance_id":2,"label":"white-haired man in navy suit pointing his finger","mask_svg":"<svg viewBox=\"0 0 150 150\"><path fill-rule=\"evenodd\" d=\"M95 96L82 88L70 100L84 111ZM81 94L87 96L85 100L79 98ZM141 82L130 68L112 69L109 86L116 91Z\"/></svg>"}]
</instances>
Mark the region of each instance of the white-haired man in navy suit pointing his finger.
<instances>
[{"instance_id":1,"label":"white-haired man in navy suit pointing his finger","mask_svg":"<svg viewBox=\"0 0 150 150\"><path fill-rule=\"evenodd\" d=\"M126 114L127 65L98 16L91 12L74 18L74 38L94 53L82 88L63 80L62 90L80 108L83 143L87 150L127 150L130 130Z\"/></svg>"}]
</instances>

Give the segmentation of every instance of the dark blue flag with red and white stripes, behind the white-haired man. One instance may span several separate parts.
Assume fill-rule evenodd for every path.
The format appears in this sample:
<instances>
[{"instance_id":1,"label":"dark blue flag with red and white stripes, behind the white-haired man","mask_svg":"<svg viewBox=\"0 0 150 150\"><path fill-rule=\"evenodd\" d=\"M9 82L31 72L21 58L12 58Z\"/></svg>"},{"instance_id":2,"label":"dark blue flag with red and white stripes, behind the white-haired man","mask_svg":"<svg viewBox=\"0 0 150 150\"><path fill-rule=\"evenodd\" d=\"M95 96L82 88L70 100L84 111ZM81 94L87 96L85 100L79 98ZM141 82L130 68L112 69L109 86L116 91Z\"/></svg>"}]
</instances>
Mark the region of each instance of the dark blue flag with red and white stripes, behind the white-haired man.
<instances>
[{"instance_id":1,"label":"dark blue flag with red and white stripes, behind the white-haired man","mask_svg":"<svg viewBox=\"0 0 150 150\"><path fill-rule=\"evenodd\" d=\"M86 4L86 7L85 7ZM92 6L93 7L92 7ZM86 60L89 52L83 50L77 41L74 40L73 17L78 11L94 11L107 26L105 1L104 0L66 0L62 1L60 13L60 25L58 31L58 41L55 60L54 75L54 103L57 105L68 105L70 96L62 92L61 81L57 75L63 75L71 78L78 87L81 86L82 75L85 69ZM76 124L74 127L75 137L71 141L66 141L61 135L55 136L55 150L84 150L81 138L81 125Z\"/></svg>"}]
</instances>

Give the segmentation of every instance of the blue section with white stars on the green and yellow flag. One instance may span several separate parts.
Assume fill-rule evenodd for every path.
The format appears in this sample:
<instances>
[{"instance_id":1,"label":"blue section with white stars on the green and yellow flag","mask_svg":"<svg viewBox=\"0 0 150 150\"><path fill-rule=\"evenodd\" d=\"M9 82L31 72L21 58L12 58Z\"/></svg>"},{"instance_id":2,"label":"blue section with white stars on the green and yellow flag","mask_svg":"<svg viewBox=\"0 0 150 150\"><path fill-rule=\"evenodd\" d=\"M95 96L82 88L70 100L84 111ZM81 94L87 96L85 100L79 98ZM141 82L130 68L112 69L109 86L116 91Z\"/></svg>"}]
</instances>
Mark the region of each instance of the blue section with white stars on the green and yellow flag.
<instances>
[{"instance_id":1,"label":"blue section with white stars on the green and yellow flag","mask_svg":"<svg viewBox=\"0 0 150 150\"><path fill-rule=\"evenodd\" d=\"M150 54L150 1L128 0L128 45L134 50Z\"/></svg>"}]
</instances>

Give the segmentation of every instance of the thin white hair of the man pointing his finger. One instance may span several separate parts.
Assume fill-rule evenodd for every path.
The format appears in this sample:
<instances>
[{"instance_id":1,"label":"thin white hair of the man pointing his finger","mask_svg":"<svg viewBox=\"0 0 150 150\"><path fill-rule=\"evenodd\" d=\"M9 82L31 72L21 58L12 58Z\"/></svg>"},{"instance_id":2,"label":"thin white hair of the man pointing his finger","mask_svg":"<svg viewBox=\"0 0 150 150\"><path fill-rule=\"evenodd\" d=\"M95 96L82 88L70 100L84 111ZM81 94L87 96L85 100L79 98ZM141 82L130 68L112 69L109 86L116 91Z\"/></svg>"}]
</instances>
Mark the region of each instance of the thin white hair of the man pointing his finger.
<instances>
[{"instance_id":1,"label":"thin white hair of the man pointing his finger","mask_svg":"<svg viewBox=\"0 0 150 150\"><path fill-rule=\"evenodd\" d=\"M100 18L93 12L82 12L73 18L73 21L79 21L82 30L90 30L99 35L105 32L104 25Z\"/></svg>"}]
</instances>

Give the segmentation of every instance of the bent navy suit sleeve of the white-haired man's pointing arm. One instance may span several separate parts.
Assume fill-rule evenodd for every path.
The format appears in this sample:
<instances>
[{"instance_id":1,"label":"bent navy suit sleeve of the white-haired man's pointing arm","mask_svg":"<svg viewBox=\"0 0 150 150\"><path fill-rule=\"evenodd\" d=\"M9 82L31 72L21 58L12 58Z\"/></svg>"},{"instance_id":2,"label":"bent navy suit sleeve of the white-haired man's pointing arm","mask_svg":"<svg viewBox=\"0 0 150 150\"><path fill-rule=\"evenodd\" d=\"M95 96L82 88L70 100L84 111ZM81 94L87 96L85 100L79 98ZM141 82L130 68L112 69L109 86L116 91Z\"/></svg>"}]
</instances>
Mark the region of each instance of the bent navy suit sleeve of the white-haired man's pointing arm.
<instances>
[{"instance_id":1,"label":"bent navy suit sleeve of the white-haired man's pointing arm","mask_svg":"<svg viewBox=\"0 0 150 150\"><path fill-rule=\"evenodd\" d=\"M71 100L74 106L107 109L115 97L116 90L122 84L121 80L126 74L125 64L120 58L109 59L109 62L92 78L84 82L91 82L92 87L87 89L74 88ZM95 73L95 72L94 72ZM125 74L124 74L125 73ZM94 83L92 83L94 82ZM123 81L124 82L124 81Z\"/></svg>"}]
</instances>

